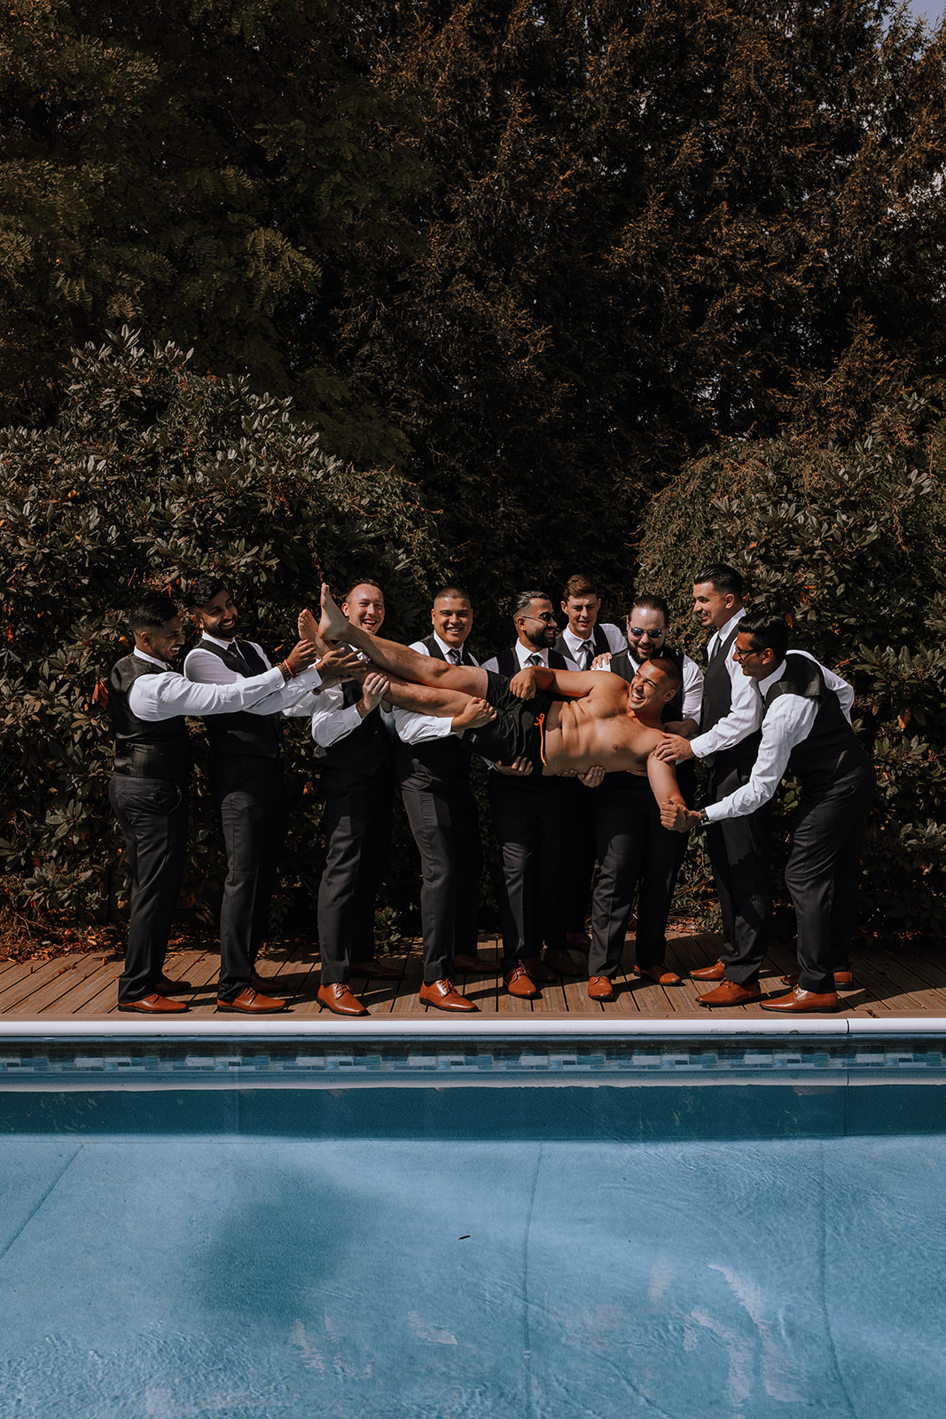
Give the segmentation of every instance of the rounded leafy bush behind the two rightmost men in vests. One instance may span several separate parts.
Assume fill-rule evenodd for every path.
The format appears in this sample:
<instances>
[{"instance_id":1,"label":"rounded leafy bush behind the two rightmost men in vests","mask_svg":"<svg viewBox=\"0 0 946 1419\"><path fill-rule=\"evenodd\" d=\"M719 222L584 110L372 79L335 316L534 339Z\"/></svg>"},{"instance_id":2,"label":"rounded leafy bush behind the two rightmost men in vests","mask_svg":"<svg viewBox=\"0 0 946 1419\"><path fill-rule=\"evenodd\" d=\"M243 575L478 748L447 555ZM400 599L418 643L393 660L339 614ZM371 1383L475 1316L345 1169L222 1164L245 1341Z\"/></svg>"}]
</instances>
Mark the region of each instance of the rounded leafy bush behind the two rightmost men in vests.
<instances>
[{"instance_id":1,"label":"rounded leafy bush behind the two rightmost men in vests","mask_svg":"<svg viewBox=\"0 0 946 1419\"><path fill-rule=\"evenodd\" d=\"M638 585L678 624L694 572L728 561L753 609L783 613L793 644L854 685L879 778L862 914L885 932L946 924L945 453L942 396L882 409L847 447L729 443L654 499L641 548Z\"/></svg>"}]
</instances>

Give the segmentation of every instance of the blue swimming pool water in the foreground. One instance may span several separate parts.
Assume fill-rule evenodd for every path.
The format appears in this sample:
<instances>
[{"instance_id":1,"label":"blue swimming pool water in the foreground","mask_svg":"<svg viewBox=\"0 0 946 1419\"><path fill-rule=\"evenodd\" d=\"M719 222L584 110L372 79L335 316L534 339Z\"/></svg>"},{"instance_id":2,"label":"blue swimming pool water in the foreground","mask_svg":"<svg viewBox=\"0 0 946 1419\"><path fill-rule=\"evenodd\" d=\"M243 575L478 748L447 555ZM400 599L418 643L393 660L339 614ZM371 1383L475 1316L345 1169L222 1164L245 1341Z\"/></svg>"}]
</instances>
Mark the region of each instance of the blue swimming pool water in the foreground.
<instances>
[{"instance_id":1,"label":"blue swimming pool water in the foreground","mask_svg":"<svg viewBox=\"0 0 946 1419\"><path fill-rule=\"evenodd\" d=\"M0 1412L942 1413L946 1070L903 1049L557 1087L20 1051Z\"/></svg>"}]
</instances>

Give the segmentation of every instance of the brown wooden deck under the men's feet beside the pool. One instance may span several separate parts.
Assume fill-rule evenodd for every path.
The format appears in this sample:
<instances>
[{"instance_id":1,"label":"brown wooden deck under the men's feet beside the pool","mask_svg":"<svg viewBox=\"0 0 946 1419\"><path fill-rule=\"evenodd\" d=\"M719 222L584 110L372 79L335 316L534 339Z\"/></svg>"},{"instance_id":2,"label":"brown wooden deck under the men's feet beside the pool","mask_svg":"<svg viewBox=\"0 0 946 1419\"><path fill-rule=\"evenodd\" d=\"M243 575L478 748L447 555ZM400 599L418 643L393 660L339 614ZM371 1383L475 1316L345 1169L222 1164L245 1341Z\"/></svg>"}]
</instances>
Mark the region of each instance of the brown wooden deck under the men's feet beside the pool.
<instances>
[{"instance_id":1,"label":"brown wooden deck under the men's feet beside the pool","mask_svg":"<svg viewBox=\"0 0 946 1419\"><path fill-rule=\"evenodd\" d=\"M668 965L684 973L696 966L712 964L719 952L719 938L715 935L679 934L671 941L668 951ZM498 942L495 937L482 937L479 954L489 961L498 961ZM574 954L574 952L573 952ZM576 955L576 962L581 962L581 955ZM396 1019L397 1016L420 1017L427 1012L420 1003L418 990L421 985L421 956L420 944L413 942L407 955L389 958L404 964L404 973L400 981L355 981L353 988L374 1017ZM589 1000L586 982L562 981L543 986L542 998L538 1000L518 1000L506 995L502 989L501 976L457 976L455 985L475 1003L485 1016L515 1019L516 1016L532 1020L542 1016L562 1019L567 1016L576 1019L583 1016L589 1020L613 1019L616 1025L621 1020L633 1025L641 1019L706 1020L711 1012L696 1005L698 996L709 986L685 981L681 986L661 988L644 982L634 975L634 938L628 937L628 944L621 962L621 975L617 985L617 998L613 1002L599 1003ZM872 946L857 952L852 958L854 978L857 985L850 990L840 992L842 1015L872 1016L875 1019L895 1016L929 1016L942 1017L946 1027L946 945L945 946ZM190 1013L184 1020L197 1022L201 1017L227 1019L238 1029L240 1016L216 1015L217 971L220 956L211 951L179 951L167 956L167 972L176 979L187 979L194 986L190 998ZM0 962L0 1016L3 1020L17 1020L23 1025L28 1020L92 1020L115 1019L123 1020L129 1016L116 1010L115 981L122 969L118 956L104 956L101 952L77 954L61 956L45 962ZM784 948L776 948L766 961L762 972L763 996L781 993L781 975L794 969L791 954ZM288 996L292 1002L292 1016L305 1019L318 1016L319 1005L315 992L319 985L319 956L318 951L308 946L274 948L260 961L260 973L272 979L275 995ZM713 1010L715 1017L723 1019L769 1019L773 1016L760 1009L759 1005L739 1006L730 1010ZM323 1015L329 1019L328 1012ZM430 1017L447 1019L440 1012L430 1012ZM479 1016L482 1019L482 1016ZM272 1019L272 1016L267 1017ZM286 1019L286 1016L279 1016ZM458 1025L464 1019L477 1016L454 1016ZM823 1016L824 1019L824 1016ZM352 1020L352 1029L357 1029L359 1020ZM3 1033L3 1022L0 1022Z\"/></svg>"}]
</instances>

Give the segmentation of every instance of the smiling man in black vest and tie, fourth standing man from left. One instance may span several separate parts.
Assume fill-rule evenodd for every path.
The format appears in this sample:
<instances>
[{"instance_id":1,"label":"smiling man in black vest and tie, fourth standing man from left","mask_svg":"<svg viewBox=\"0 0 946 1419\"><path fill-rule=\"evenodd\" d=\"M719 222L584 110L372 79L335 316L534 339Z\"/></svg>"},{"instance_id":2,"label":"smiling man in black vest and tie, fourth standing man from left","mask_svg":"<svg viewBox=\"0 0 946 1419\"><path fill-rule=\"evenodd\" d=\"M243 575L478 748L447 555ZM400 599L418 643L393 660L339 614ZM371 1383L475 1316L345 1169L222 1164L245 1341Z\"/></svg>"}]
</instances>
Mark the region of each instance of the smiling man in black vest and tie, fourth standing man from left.
<instances>
[{"instance_id":1,"label":"smiling man in black vest and tie, fourth standing man from left","mask_svg":"<svg viewBox=\"0 0 946 1419\"><path fill-rule=\"evenodd\" d=\"M431 609L433 633L410 647L452 666L478 666L467 648L472 630L472 604L460 586L441 586ZM424 985L438 1009L461 1010L455 990L445 992L454 969L462 973L495 969L477 955L479 898L479 817L469 789L469 753L448 719L428 719L437 738L410 742L408 718L394 711L397 780L421 860L420 912L424 942ZM406 742L407 741L407 742Z\"/></svg>"}]
</instances>

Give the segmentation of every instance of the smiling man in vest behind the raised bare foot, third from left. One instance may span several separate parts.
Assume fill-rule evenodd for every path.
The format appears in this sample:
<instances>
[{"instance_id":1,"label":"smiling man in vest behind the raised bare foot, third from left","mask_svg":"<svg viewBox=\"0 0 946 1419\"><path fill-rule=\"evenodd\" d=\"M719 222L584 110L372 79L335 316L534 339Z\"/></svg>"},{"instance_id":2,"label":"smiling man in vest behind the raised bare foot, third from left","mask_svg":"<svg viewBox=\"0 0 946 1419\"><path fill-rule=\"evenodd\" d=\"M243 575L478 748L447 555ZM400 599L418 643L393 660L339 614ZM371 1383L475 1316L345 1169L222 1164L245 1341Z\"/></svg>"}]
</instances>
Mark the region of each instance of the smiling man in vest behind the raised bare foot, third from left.
<instances>
[{"instance_id":1,"label":"smiling man in vest behind the raised bare foot, third from left","mask_svg":"<svg viewBox=\"0 0 946 1419\"><path fill-rule=\"evenodd\" d=\"M376 634L384 593L374 582L349 587L342 612ZM391 837L393 734L382 717L380 677L346 680L319 695L312 738L319 755L325 807L325 870L319 884L319 1002L335 1015L367 1015L352 976L397 979L400 965L374 959L374 895Z\"/></svg>"}]
</instances>

